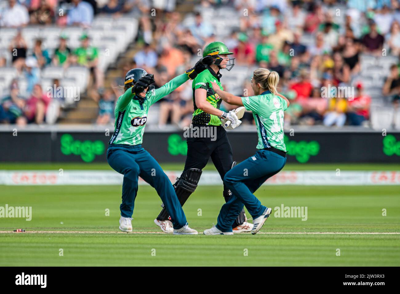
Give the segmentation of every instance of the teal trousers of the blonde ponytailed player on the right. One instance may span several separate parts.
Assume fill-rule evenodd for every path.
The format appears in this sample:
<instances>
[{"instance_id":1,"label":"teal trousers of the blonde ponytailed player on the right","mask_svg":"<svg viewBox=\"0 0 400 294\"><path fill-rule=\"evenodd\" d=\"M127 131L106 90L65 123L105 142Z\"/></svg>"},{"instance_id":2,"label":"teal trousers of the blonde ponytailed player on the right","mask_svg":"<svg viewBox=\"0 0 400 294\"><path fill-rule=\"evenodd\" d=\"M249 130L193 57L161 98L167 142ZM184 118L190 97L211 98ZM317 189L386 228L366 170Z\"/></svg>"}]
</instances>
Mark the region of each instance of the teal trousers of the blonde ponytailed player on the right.
<instances>
[{"instance_id":1,"label":"teal trousers of the blonde ponytailed player on the right","mask_svg":"<svg viewBox=\"0 0 400 294\"><path fill-rule=\"evenodd\" d=\"M262 149L227 172L224 184L232 191L232 196L220 210L216 224L218 230L232 232L232 224L243 206L253 218L260 216L266 207L253 193L268 178L280 172L285 164L286 157Z\"/></svg>"}]
</instances>

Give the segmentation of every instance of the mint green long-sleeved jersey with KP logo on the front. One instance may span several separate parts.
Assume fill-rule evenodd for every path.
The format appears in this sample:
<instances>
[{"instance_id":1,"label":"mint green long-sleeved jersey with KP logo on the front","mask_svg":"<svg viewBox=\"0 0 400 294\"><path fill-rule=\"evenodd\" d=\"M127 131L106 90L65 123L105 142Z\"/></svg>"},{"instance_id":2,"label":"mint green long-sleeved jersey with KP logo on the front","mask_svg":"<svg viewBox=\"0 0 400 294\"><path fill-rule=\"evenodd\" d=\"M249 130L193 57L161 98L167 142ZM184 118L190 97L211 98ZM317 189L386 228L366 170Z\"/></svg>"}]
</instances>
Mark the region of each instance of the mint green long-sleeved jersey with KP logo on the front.
<instances>
[{"instance_id":1,"label":"mint green long-sleeved jersey with KP logo on the front","mask_svg":"<svg viewBox=\"0 0 400 294\"><path fill-rule=\"evenodd\" d=\"M117 100L114 110L115 130L108 144L142 144L150 106L170 94L188 79L187 74L181 74L164 86L146 92L146 99L144 99L143 103L134 98L132 88L126 90Z\"/></svg>"}]
</instances>

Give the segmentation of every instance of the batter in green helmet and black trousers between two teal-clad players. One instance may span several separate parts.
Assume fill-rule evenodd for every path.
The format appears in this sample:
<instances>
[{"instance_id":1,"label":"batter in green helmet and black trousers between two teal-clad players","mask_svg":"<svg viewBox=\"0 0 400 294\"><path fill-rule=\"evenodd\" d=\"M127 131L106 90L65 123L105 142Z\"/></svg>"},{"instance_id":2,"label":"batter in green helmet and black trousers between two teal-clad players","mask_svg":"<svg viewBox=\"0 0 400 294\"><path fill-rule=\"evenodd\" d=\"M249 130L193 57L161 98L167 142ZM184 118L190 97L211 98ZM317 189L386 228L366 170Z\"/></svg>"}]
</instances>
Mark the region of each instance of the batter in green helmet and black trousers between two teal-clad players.
<instances>
[{"instance_id":1,"label":"batter in green helmet and black trousers between two teal-clad players","mask_svg":"<svg viewBox=\"0 0 400 294\"><path fill-rule=\"evenodd\" d=\"M220 78L221 69L231 70L234 66L235 58L229 58L233 54L228 47L222 42L211 42L206 45L203 51L204 58L212 56L213 64L207 66L207 69L199 74L192 82L193 88L193 104L194 113L192 118L192 128L194 132L197 130L208 129L211 136L189 137L186 139L188 152L185 167L180 178L174 184L176 195L183 204L188 200L190 194L196 190L198 181L202 173L202 169L206 166L211 157L214 166L218 170L221 179L224 178L236 162L233 160L232 148L230 146L226 130L221 126L221 120L230 120L232 124L230 128L235 128L240 124L235 112L229 113L220 110L222 100L213 90L211 82L216 82L218 87L223 90ZM224 185L222 192L225 202L231 196L231 191ZM157 218L154 220L163 232L170 233L172 228L168 226L170 213L164 207ZM238 211L237 220L232 224L234 232L250 232L252 224L246 221L244 210ZM171 216L172 217L172 216ZM231 228L232 231L232 228Z\"/></svg>"}]
</instances>

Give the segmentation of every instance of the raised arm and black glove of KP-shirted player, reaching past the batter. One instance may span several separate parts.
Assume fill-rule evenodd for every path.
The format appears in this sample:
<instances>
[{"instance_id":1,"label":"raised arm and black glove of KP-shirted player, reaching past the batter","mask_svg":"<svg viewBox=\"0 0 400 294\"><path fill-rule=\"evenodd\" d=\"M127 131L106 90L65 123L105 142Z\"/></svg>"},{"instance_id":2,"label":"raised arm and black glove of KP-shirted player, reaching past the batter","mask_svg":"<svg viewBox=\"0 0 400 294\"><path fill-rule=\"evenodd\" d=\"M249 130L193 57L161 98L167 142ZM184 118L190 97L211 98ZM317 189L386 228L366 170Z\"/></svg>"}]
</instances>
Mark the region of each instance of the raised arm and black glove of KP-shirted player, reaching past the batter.
<instances>
[{"instance_id":1,"label":"raised arm and black glove of KP-shirted player, reaching past the batter","mask_svg":"<svg viewBox=\"0 0 400 294\"><path fill-rule=\"evenodd\" d=\"M200 74L200 72L205 70L208 65L212 64L213 60L214 59L212 58L212 56L209 55L200 58L200 60L198 60L198 62L196 62L196 64L192 68L189 68L180 76L176 76L168 83L166 83L164 86L154 90L154 93L151 97L151 104L157 102L162 97L170 94L172 91L174 91L176 88L178 88L187 80L189 79L193 80L194 78L196 78L197 74Z\"/></svg>"}]
</instances>

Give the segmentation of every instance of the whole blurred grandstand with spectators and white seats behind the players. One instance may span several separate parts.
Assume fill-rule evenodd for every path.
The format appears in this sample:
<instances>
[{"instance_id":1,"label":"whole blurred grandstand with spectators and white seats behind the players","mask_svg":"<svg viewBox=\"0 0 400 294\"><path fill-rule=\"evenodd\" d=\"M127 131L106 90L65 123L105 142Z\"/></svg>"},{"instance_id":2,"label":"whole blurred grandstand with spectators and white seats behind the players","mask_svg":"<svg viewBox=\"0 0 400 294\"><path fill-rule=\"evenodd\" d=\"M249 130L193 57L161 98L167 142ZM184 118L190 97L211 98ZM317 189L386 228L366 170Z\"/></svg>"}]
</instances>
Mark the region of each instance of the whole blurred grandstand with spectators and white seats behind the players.
<instances>
[{"instance_id":1,"label":"whole blurred grandstand with spectators and white seats behind the players","mask_svg":"<svg viewBox=\"0 0 400 294\"><path fill-rule=\"evenodd\" d=\"M128 70L154 73L157 88L221 40L236 58L225 90L251 96L254 69L278 72L286 127L400 128L398 0L8 0L0 26L2 123L113 124ZM191 86L148 124L188 126Z\"/></svg>"}]
</instances>

